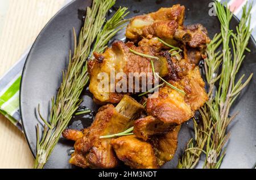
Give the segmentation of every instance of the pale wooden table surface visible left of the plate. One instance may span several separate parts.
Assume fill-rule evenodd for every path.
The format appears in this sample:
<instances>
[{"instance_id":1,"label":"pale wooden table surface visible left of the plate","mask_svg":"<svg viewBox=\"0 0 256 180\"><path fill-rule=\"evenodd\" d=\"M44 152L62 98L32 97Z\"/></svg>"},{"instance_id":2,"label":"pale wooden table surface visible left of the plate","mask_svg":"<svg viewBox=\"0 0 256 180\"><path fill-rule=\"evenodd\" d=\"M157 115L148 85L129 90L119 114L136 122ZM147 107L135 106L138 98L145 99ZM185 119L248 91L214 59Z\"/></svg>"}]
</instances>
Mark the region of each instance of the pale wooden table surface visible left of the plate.
<instances>
[{"instance_id":1,"label":"pale wooden table surface visible left of the plate","mask_svg":"<svg viewBox=\"0 0 256 180\"><path fill-rule=\"evenodd\" d=\"M0 76L31 45L65 0L0 0ZM22 132L0 115L0 168L32 168Z\"/></svg>"}]
</instances>

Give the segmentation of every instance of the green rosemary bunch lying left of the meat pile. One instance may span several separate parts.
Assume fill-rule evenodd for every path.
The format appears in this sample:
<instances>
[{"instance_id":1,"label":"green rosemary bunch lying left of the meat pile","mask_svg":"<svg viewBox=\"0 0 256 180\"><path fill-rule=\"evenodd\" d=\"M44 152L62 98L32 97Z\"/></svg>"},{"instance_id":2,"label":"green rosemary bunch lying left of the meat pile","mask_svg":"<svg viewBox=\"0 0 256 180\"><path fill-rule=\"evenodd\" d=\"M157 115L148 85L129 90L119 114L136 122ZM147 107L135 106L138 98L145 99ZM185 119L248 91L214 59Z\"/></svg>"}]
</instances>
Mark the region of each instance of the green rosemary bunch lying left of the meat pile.
<instances>
[{"instance_id":1,"label":"green rosemary bunch lying left of the meat pile","mask_svg":"<svg viewBox=\"0 0 256 180\"><path fill-rule=\"evenodd\" d=\"M69 55L68 69L63 71L63 82L60 85L56 100L52 99L52 109L49 115L49 122L44 125L43 135L40 138L39 125L36 126L37 144L36 159L34 168L43 168L48 161L55 145L59 141L61 133L67 127L72 115L75 114L81 103L80 95L85 85L88 83L87 59L92 48L93 41L101 33L106 38L115 35L115 27L121 25L121 19L116 14L109 20L111 23L105 24L105 31L101 31L105 23L105 16L114 5L115 0L94 0L92 8L86 10L84 26L81 28L79 42L76 41L75 29L73 29L75 48L73 57ZM119 10L118 14L124 16L124 11ZM118 20L117 20L118 17ZM109 28L108 26L111 26ZM112 32L112 33L109 33ZM104 50L105 42L98 38L94 47ZM97 50L96 48L96 50ZM40 115L42 117L42 115ZM43 119L43 118L42 118ZM49 126L48 126L49 125Z\"/></svg>"}]
</instances>

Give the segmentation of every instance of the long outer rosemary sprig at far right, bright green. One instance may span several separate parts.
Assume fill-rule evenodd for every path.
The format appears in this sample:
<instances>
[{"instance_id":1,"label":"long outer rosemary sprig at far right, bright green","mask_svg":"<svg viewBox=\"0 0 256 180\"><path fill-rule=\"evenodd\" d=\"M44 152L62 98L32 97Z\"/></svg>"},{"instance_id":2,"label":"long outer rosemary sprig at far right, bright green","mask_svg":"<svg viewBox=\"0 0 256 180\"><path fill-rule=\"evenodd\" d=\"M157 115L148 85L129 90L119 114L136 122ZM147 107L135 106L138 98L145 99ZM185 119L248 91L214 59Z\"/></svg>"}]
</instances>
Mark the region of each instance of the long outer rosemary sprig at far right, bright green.
<instances>
[{"instance_id":1,"label":"long outer rosemary sprig at far right, bright green","mask_svg":"<svg viewBox=\"0 0 256 180\"><path fill-rule=\"evenodd\" d=\"M242 83L245 75L242 75L236 82L237 72L240 70L241 63L245 59L245 50L249 43L251 29L251 8L252 3L243 7L242 18L236 33L229 30L229 23L232 13L226 10L221 3L214 3L217 16L221 22L221 36L223 39L223 58L222 58L222 72L220 76L220 86L216 92L216 96L211 104L208 103L209 113L212 117L212 136L209 136L207 141L207 157L210 152L214 152L217 156L217 162L209 162L205 160L204 168L220 168L221 162L225 156L224 145L229 139L229 133L226 132L228 125L236 117L237 113L229 117L230 107L236 100L238 95L245 86L250 82L253 74ZM231 35L230 35L231 34ZM229 42L232 42L232 52L229 48Z\"/></svg>"}]
</instances>

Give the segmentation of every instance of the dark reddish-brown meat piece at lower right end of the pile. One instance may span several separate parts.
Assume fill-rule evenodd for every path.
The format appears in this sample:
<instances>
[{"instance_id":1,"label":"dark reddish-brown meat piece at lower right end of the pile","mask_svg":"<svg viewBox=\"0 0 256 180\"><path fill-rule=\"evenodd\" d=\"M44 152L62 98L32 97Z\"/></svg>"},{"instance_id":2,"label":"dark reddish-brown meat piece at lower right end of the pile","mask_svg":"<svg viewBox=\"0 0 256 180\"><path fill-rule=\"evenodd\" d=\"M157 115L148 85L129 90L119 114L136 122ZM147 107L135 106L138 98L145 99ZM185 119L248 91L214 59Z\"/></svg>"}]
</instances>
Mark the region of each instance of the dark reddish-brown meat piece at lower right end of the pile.
<instances>
[{"instance_id":1,"label":"dark reddish-brown meat piece at lower right end of the pile","mask_svg":"<svg viewBox=\"0 0 256 180\"><path fill-rule=\"evenodd\" d=\"M159 166L164 165L174 157L177 149L179 131L180 126L175 126L166 134L156 135L150 139L150 143L155 149Z\"/></svg>"}]
</instances>

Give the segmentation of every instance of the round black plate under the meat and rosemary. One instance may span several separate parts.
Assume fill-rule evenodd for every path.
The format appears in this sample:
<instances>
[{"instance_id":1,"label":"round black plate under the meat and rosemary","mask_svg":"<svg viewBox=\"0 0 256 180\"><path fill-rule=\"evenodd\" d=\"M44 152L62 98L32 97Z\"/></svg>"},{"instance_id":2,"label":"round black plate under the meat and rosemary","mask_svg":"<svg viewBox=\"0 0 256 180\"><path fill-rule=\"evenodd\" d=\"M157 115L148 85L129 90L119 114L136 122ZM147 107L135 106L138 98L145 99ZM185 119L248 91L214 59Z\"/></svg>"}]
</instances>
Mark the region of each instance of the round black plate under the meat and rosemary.
<instances>
[{"instance_id":1,"label":"round black plate under the meat and rosemary","mask_svg":"<svg viewBox=\"0 0 256 180\"><path fill-rule=\"evenodd\" d=\"M158 10L160 7L170 7L176 3L185 5L185 24L201 23L207 27L209 36L220 31L220 24L216 16L209 16L209 3L212 1L155 1L155 0L129 0L117 1L115 7L129 7L129 18L134 15ZM23 126L28 144L35 155L37 123L42 124L36 115L36 107L41 105L44 117L49 114L49 104L61 83L61 70L68 64L68 52L72 49L72 28L76 31L82 25L82 15L90 1L77 0L63 8L43 29L28 55L24 66L22 85L20 88L20 110L22 113ZM113 11L116 8L113 8ZM238 23L236 18L232 20L232 28ZM115 39L123 39L124 31L120 32ZM251 53L246 55L240 74L248 76L251 72L256 74L256 45L253 38L250 39L249 48ZM240 114L230 126L231 138L228 142L227 154L221 168L252 168L256 162L256 79L251 80L250 85L243 91L232 113L240 111ZM97 106L93 104L88 91L83 93L84 105L97 112ZM91 117L77 117L72 119L69 127L83 128L92 122ZM179 134L179 148L175 158L164 165L163 168L175 168L177 160L182 155L188 139L193 134L192 123L185 123ZM68 152L73 143L60 139L51 158L45 168L75 168L68 163Z\"/></svg>"}]
</instances>

